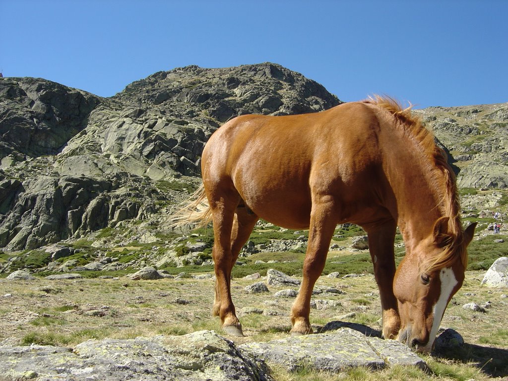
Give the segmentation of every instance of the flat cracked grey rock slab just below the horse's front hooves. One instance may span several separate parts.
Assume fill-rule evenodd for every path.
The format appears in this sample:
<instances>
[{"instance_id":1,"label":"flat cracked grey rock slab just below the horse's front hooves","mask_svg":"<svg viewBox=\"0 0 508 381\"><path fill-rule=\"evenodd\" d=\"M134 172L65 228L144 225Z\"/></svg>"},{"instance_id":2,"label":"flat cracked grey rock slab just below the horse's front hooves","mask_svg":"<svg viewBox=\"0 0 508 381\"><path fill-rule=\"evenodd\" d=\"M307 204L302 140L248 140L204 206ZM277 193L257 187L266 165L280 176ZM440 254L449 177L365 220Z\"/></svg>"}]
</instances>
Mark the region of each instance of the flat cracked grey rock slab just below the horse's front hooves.
<instances>
[{"instance_id":1,"label":"flat cracked grey rock slab just below the horse's front hooves","mask_svg":"<svg viewBox=\"0 0 508 381\"><path fill-rule=\"evenodd\" d=\"M358 366L383 369L399 364L426 368L421 358L398 341L366 337L349 328L335 333L247 343L239 348L289 371L310 367L316 371L341 372Z\"/></svg>"}]
</instances>

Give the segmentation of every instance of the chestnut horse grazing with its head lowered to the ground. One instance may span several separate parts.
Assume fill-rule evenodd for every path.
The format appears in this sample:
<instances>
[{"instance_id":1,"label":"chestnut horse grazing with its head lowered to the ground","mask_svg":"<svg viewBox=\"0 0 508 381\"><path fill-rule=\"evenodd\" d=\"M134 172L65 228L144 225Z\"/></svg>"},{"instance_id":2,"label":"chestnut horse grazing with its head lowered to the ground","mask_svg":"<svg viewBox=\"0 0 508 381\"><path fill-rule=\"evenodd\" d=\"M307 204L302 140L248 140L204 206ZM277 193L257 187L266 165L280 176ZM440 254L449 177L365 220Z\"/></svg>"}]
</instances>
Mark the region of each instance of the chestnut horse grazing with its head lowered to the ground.
<instances>
[{"instance_id":1,"label":"chestnut horse grazing with its head lowered to the ground","mask_svg":"<svg viewBox=\"0 0 508 381\"><path fill-rule=\"evenodd\" d=\"M203 183L176 221L213 223L212 314L227 334L243 336L231 270L258 219L309 230L292 335L312 333L314 283L336 226L353 223L368 235L382 336L432 351L476 224L463 229L455 175L411 107L375 96L317 113L238 116L212 134L201 160ZM397 227L406 248L398 267Z\"/></svg>"}]
</instances>

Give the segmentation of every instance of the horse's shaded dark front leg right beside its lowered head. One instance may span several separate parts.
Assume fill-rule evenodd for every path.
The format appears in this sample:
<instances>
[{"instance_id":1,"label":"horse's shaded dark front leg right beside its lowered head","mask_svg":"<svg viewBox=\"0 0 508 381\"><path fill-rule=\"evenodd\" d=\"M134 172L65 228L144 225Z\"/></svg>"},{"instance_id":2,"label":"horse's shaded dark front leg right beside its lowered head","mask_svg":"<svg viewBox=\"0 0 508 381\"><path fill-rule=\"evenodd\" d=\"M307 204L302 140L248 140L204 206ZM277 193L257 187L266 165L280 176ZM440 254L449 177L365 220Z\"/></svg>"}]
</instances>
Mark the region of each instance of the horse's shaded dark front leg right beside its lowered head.
<instances>
[{"instance_id":1,"label":"horse's shaded dark front leg right beside its lowered head","mask_svg":"<svg viewBox=\"0 0 508 381\"><path fill-rule=\"evenodd\" d=\"M383 310L383 337L386 339L395 338L400 329L399 309L393 293L393 278L396 270L393 243L396 229L395 221L390 221L367 231L374 277Z\"/></svg>"}]
</instances>

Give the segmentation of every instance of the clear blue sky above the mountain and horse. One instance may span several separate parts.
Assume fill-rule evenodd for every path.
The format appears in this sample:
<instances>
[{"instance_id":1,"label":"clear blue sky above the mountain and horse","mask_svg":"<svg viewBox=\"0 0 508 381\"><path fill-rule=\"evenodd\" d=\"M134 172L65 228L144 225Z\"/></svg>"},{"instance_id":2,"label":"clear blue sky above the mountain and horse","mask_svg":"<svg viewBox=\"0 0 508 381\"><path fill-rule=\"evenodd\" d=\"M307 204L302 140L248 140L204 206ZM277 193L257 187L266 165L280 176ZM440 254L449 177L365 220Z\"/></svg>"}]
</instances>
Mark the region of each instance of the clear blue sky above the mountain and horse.
<instances>
[{"instance_id":1,"label":"clear blue sky above the mountain and horse","mask_svg":"<svg viewBox=\"0 0 508 381\"><path fill-rule=\"evenodd\" d=\"M343 101L508 102L508 1L0 0L0 70L109 97L157 71L271 61Z\"/></svg>"}]
</instances>

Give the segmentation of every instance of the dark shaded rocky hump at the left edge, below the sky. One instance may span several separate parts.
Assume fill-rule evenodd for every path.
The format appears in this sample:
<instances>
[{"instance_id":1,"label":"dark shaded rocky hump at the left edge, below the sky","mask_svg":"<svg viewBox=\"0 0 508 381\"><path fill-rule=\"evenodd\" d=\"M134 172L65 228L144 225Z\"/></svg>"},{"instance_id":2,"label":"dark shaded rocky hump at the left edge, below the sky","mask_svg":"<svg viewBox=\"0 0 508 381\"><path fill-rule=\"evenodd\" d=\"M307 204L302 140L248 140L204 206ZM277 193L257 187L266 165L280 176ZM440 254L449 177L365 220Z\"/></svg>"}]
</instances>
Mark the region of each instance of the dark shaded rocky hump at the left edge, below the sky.
<instances>
[{"instance_id":1,"label":"dark shaded rocky hump at the left edge, below the sky","mask_svg":"<svg viewBox=\"0 0 508 381\"><path fill-rule=\"evenodd\" d=\"M39 78L2 78L2 164L57 153L86 127L100 102L93 94Z\"/></svg>"}]
</instances>

